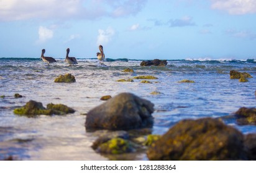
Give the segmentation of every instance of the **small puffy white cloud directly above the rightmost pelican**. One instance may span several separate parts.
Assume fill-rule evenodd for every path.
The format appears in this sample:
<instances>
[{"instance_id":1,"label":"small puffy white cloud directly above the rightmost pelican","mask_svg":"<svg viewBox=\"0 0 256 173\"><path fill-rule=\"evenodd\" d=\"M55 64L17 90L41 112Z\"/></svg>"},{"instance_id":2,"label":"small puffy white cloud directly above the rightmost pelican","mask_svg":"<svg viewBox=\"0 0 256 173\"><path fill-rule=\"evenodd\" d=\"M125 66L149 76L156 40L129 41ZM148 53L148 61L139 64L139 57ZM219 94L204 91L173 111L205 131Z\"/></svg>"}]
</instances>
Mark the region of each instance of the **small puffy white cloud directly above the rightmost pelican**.
<instances>
[{"instance_id":1,"label":"small puffy white cloud directly above the rightmost pelican","mask_svg":"<svg viewBox=\"0 0 256 173\"><path fill-rule=\"evenodd\" d=\"M97 44L107 44L112 40L112 37L115 35L115 30L111 27L108 27L106 30L98 30L99 35L97 39Z\"/></svg>"}]
</instances>

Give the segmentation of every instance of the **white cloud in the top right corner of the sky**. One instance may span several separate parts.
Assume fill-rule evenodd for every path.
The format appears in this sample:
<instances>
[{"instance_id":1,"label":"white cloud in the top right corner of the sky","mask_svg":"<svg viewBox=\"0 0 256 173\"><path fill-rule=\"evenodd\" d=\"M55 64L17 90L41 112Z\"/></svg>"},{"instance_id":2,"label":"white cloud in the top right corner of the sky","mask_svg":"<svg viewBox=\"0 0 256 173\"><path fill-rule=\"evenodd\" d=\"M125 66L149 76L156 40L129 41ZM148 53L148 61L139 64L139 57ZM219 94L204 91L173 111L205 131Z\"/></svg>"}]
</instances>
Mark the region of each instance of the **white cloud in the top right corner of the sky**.
<instances>
[{"instance_id":1,"label":"white cloud in the top right corner of the sky","mask_svg":"<svg viewBox=\"0 0 256 173\"><path fill-rule=\"evenodd\" d=\"M211 7L234 15L256 13L255 0L212 0Z\"/></svg>"}]
</instances>

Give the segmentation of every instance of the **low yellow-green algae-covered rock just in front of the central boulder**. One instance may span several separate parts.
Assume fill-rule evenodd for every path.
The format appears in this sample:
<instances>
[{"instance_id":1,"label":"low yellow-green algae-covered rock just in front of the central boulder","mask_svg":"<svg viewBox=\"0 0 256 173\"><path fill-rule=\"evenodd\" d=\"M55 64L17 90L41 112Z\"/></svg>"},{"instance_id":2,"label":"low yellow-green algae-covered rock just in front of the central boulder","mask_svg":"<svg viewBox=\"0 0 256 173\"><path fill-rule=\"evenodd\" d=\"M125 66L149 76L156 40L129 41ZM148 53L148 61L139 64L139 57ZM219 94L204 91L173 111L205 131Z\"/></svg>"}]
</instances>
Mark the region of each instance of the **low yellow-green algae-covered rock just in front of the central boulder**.
<instances>
[{"instance_id":1,"label":"low yellow-green algae-covered rock just in front of the central boulder","mask_svg":"<svg viewBox=\"0 0 256 173\"><path fill-rule=\"evenodd\" d=\"M108 140L105 143L99 145L96 151L106 154L122 154L130 153L134 151L134 148L128 140L123 138L112 138L111 140Z\"/></svg>"}]
</instances>

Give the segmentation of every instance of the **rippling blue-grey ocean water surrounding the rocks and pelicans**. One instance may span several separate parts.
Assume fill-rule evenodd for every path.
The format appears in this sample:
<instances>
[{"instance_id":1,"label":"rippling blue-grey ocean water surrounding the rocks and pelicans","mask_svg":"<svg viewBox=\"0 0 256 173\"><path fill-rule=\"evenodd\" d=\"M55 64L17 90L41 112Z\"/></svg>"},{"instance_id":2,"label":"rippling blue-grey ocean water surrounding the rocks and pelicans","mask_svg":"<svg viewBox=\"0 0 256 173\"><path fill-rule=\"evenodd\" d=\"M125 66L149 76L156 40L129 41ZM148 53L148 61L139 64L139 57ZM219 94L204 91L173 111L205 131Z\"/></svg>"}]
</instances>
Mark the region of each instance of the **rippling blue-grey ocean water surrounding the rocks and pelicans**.
<instances>
[{"instance_id":1,"label":"rippling blue-grey ocean water surrounding the rocks and pelicans","mask_svg":"<svg viewBox=\"0 0 256 173\"><path fill-rule=\"evenodd\" d=\"M77 59L69 66L64 59L46 64L39 58L0 58L0 159L13 156L19 160L147 160L145 152L120 154L117 158L96 153L91 145L98 132L86 132L86 112L95 108L101 96L134 93L155 104L153 134L167 132L183 119L224 117L241 107L256 106L256 59L168 60L165 67L140 66L142 60L107 59L106 66L97 59ZM134 73L122 72L133 69ZM230 70L248 72L249 82L230 79ZM59 75L70 73L75 83L55 83ZM153 75L152 83L116 82L137 75ZM179 83L180 80L194 83ZM152 95L153 91L159 92ZM22 98L14 98L19 93ZM66 116L17 116L13 110L29 100L62 103L76 110ZM256 132L255 125L228 125L242 133Z\"/></svg>"}]
</instances>

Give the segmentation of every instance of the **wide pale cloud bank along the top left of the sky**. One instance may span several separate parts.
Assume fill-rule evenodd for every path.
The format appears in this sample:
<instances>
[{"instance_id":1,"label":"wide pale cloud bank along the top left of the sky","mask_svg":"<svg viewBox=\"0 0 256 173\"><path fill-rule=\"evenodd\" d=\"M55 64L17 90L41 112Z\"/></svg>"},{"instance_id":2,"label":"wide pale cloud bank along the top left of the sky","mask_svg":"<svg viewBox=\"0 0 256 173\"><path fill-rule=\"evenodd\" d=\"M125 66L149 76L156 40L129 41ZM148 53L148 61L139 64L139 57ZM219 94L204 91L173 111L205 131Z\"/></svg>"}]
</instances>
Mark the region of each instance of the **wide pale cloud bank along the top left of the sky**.
<instances>
[{"instance_id":1,"label":"wide pale cloud bank along the top left of the sky","mask_svg":"<svg viewBox=\"0 0 256 173\"><path fill-rule=\"evenodd\" d=\"M1 0L0 21L96 19L137 14L147 0Z\"/></svg>"}]
</instances>

